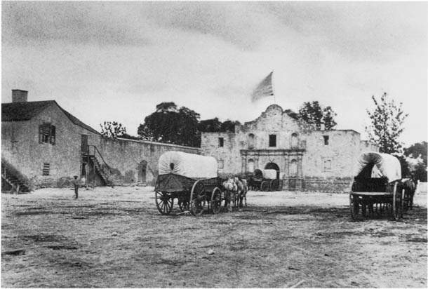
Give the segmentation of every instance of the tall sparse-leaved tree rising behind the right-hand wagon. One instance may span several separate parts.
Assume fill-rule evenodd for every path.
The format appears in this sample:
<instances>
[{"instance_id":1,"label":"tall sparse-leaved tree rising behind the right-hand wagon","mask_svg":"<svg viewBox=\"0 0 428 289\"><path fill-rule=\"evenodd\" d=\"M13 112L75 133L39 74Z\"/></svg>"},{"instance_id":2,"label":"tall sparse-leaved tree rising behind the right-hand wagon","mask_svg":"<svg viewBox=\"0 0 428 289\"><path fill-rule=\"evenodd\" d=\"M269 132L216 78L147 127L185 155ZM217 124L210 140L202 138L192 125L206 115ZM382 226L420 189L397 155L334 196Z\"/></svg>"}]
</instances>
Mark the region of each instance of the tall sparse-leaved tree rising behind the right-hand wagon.
<instances>
[{"instance_id":1,"label":"tall sparse-leaved tree rising behind the right-hand wagon","mask_svg":"<svg viewBox=\"0 0 428 289\"><path fill-rule=\"evenodd\" d=\"M369 140L379 145L380 152L400 153L402 145L399 136L403 133L403 123L408 116L401 108L403 103L397 106L387 93L383 93L379 101L374 95L372 99L375 109L371 112L366 109L371 121L370 126L366 127Z\"/></svg>"}]
</instances>

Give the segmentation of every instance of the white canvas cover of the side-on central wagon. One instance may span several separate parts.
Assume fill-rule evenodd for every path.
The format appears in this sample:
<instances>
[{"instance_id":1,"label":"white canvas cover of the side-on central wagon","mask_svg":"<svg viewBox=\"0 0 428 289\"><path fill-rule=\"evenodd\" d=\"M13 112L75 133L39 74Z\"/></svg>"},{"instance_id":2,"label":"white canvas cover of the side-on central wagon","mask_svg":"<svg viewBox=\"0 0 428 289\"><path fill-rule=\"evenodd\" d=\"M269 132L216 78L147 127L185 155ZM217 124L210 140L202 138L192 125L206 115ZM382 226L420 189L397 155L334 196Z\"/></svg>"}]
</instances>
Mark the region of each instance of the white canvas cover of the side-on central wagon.
<instances>
[{"instance_id":1,"label":"white canvas cover of the side-on central wagon","mask_svg":"<svg viewBox=\"0 0 428 289\"><path fill-rule=\"evenodd\" d=\"M159 175L173 173L192 178L217 177L218 164L212 156L165 152L159 158Z\"/></svg>"}]
</instances>

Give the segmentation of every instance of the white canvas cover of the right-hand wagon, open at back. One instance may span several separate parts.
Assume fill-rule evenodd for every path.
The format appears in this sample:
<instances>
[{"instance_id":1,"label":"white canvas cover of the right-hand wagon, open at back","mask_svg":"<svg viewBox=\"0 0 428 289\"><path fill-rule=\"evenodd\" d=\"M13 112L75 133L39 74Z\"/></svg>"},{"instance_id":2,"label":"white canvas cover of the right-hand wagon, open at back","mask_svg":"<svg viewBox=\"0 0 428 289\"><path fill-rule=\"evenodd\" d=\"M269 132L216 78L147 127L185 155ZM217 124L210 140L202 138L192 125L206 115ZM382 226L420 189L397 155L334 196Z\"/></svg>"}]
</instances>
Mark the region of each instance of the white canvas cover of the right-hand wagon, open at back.
<instances>
[{"instance_id":1,"label":"white canvas cover of the right-hand wagon, open at back","mask_svg":"<svg viewBox=\"0 0 428 289\"><path fill-rule=\"evenodd\" d=\"M388 177L389 182L399 180L401 179L400 161L391 154L363 152L356 163L354 175L357 177L380 177L384 175Z\"/></svg>"}]
</instances>

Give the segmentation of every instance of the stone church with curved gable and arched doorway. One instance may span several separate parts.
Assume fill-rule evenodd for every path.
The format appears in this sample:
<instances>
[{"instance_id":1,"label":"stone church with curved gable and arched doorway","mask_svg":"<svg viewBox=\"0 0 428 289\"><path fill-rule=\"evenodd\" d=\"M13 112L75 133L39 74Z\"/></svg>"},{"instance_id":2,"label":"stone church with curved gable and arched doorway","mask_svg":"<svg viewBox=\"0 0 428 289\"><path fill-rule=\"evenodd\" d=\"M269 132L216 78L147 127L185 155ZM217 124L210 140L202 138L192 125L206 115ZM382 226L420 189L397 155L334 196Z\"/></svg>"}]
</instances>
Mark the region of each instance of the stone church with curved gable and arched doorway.
<instances>
[{"instance_id":1,"label":"stone church with curved gable and arched doorway","mask_svg":"<svg viewBox=\"0 0 428 289\"><path fill-rule=\"evenodd\" d=\"M283 189L342 190L361 152L378 149L355 130L305 130L297 115L270 105L234 133L202 133L201 154L214 156L223 175L275 169Z\"/></svg>"}]
</instances>

